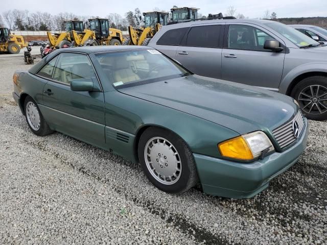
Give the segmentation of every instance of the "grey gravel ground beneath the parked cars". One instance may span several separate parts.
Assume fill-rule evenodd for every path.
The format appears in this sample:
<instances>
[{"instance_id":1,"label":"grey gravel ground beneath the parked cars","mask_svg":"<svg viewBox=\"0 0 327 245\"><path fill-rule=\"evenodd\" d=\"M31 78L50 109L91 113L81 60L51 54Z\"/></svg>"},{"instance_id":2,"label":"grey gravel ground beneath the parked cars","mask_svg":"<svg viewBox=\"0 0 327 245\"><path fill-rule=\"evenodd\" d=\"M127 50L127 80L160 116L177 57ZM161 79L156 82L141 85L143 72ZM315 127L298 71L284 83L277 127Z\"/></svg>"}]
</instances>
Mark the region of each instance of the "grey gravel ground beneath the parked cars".
<instances>
[{"instance_id":1,"label":"grey gravel ground beneath the parked cars","mask_svg":"<svg viewBox=\"0 0 327 245\"><path fill-rule=\"evenodd\" d=\"M0 244L327 244L327 122L308 146L252 199L172 195L122 157L35 136L0 96Z\"/></svg>"}]
</instances>

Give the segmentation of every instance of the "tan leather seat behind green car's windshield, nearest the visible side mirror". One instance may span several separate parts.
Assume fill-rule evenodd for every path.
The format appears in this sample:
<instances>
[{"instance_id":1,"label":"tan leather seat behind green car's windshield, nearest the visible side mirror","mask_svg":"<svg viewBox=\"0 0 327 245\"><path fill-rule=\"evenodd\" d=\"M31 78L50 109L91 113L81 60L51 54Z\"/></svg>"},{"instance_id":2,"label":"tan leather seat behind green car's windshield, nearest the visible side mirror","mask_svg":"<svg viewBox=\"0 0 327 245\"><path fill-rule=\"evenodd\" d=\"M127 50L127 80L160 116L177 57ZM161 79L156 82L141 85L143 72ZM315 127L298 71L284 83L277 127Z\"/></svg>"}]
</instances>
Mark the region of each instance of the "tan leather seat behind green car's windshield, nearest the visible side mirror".
<instances>
[{"instance_id":1,"label":"tan leather seat behind green car's windshield, nearest the visible side mirror","mask_svg":"<svg viewBox=\"0 0 327 245\"><path fill-rule=\"evenodd\" d=\"M126 56L120 56L115 59L114 82L127 83L139 80L139 77L133 72L126 58Z\"/></svg>"}]
</instances>

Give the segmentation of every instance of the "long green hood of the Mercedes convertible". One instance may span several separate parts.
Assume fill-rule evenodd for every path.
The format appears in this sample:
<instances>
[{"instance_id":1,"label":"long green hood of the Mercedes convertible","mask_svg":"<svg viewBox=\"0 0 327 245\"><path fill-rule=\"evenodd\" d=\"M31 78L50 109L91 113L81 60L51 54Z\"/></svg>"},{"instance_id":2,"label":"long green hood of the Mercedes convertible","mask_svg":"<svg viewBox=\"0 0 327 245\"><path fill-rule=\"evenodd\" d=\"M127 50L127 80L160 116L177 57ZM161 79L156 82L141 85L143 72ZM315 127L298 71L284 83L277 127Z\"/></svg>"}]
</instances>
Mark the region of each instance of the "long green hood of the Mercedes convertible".
<instances>
[{"instance_id":1,"label":"long green hood of the Mercedes convertible","mask_svg":"<svg viewBox=\"0 0 327 245\"><path fill-rule=\"evenodd\" d=\"M197 75L119 91L212 121L239 134L273 130L297 110L289 96Z\"/></svg>"}]
</instances>

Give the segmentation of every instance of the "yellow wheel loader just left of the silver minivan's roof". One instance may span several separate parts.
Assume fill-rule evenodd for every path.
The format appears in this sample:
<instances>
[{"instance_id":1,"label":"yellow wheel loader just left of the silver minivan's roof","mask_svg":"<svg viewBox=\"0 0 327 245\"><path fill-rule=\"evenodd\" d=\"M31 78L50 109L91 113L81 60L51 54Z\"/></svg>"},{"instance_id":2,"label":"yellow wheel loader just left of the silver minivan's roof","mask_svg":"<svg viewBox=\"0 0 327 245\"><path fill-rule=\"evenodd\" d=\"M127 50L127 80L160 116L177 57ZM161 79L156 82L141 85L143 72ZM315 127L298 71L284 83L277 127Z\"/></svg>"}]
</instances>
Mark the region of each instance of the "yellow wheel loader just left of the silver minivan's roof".
<instances>
[{"instance_id":1,"label":"yellow wheel loader just left of the silver minivan's roof","mask_svg":"<svg viewBox=\"0 0 327 245\"><path fill-rule=\"evenodd\" d=\"M129 37L126 38L123 45L148 45L161 26L166 26L167 24L168 13L166 12L146 12L143 15L144 28L129 26Z\"/></svg>"}]
</instances>

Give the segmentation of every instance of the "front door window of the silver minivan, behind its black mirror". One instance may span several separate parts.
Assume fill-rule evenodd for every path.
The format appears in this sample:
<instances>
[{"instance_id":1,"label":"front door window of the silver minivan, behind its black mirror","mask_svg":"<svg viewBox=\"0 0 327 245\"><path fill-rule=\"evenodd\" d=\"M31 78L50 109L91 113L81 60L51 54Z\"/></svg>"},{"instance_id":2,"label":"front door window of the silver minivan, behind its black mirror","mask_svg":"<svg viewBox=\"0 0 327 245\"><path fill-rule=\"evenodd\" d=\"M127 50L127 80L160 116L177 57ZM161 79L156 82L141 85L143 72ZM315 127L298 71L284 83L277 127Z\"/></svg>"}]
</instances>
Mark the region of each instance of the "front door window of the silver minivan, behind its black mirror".
<instances>
[{"instance_id":1,"label":"front door window of the silver minivan, behind its black mirror","mask_svg":"<svg viewBox=\"0 0 327 245\"><path fill-rule=\"evenodd\" d=\"M241 24L230 24L228 29L228 48L236 50L265 51L266 40L275 40L264 31Z\"/></svg>"}]
</instances>

